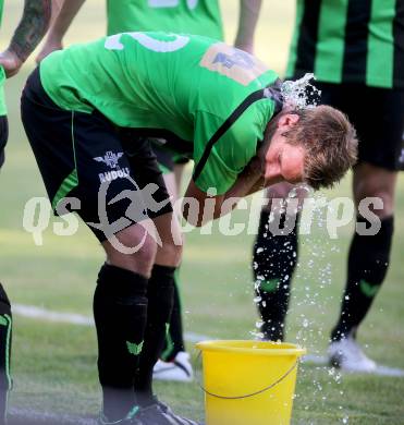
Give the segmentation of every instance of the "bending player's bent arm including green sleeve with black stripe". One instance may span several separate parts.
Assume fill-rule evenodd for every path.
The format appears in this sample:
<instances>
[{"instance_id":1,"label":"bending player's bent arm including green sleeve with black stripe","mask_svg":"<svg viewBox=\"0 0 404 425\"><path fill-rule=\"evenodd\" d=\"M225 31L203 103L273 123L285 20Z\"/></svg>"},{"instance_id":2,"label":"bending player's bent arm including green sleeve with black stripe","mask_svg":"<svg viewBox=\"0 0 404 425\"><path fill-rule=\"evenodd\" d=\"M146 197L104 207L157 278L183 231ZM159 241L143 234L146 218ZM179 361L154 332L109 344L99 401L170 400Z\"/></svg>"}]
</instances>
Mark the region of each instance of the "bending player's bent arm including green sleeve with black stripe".
<instances>
[{"instance_id":1,"label":"bending player's bent arm including green sleeve with black stripe","mask_svg":"<svg viewBox=\"0 0 404 425\"><path fill-rule=\"evenodd\" d=\"M196 112L195 169L184 202L184 207L191 205L192 208L183 210L191 224L200 227L224 216L235 207L237 199L262 189L265 165L262 156L258 156L256 150L256 141L261 139L262 134L259 125L255 125L256 113L249 108L209 148L223 119L206 111ZM191 198L189 202L186 198ZM204 214L207 201L209 212ZM199 206L197 210L195 204ZM213 210L210 208L212 204Z\"/></svg>"}]
</instances>

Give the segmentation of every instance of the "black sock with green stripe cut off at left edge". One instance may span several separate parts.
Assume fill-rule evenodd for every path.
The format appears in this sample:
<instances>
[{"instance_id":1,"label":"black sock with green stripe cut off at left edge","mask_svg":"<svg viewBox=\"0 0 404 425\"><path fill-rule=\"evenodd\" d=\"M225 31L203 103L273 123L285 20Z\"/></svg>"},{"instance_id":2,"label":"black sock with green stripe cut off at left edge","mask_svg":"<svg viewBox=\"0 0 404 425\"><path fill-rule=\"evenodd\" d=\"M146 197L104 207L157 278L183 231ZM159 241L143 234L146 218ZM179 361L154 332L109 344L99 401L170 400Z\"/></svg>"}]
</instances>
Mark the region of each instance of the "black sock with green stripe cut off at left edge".
<instances>
[{"instance_id":1,"label":"black sock with green stripe cut off at left edge","mask_svg":"<svg viewBox=\"0 0 404 425\"><path fill-rule=\"evenodd\" d=\"M5 423L8 394L11 389L11 328L10 301L0 283L0 424Z\"/></svg>"}]
</instances>

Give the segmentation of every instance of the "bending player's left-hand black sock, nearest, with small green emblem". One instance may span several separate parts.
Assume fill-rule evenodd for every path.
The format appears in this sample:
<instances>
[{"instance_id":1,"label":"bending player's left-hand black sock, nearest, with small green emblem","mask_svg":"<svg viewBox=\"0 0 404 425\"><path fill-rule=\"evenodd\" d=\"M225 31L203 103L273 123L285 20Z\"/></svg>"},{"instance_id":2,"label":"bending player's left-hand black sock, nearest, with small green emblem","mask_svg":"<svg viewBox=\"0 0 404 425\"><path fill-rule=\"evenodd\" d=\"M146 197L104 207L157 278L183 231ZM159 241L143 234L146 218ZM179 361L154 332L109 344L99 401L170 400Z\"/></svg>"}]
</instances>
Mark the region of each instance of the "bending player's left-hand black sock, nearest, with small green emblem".
<instances>
[{"instance_id":1,"label":"bending player's left-hand black sock, nearest, with small green emblem","mask_svg":"<svg viewBox=\"0 0 404 425\"><path fill-rule=\"evenodd\" d=\"M135 403L134 381L147 319L147 278L103 265L94 294L103 414L123 418Z\"/></svg>"}]
</instances>

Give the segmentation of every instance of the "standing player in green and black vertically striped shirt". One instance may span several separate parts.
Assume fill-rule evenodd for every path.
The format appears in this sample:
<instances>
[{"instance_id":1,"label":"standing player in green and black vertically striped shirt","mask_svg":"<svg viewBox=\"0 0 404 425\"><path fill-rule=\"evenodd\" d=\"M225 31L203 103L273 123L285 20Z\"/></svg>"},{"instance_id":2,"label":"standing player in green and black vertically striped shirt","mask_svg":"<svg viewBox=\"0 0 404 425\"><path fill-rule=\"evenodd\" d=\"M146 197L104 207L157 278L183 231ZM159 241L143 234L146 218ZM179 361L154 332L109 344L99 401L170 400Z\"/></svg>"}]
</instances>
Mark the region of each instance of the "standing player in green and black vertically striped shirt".
<instances>
[{"instance_id":1,"label":"standing player in green and black vertically striped shirt","mask_svg":"<svg viewBox=\"0 0 404 425\"><path fill-rule=\"evenodd\" d=\"M360 141L353 179L356 208L367 197L383 203L374 209L381 222L379 232L355 233L352 239L341 312L331 332L330 362L347 371L376 368L358 345L356 335L390 264L404 126L404 13L403 2L395 3L369 0L359 5L355 1L321 0L311 4L298 0L299 17L286 74L298 78L314 72L321 102L344 111L355 125ZM268 196L286 198L291 189L277 185ZM369 227L359 211L357 215L357 222ZM269 210L262 210L254 263L256 278L265 278L258 282L262 332L266 339L277 340L284 336L290 286L297 263L297 232L294 229L289 234L265 238L268 218ZM287 221L284 214L281 221Z\"/></svg>"}]
</instances>

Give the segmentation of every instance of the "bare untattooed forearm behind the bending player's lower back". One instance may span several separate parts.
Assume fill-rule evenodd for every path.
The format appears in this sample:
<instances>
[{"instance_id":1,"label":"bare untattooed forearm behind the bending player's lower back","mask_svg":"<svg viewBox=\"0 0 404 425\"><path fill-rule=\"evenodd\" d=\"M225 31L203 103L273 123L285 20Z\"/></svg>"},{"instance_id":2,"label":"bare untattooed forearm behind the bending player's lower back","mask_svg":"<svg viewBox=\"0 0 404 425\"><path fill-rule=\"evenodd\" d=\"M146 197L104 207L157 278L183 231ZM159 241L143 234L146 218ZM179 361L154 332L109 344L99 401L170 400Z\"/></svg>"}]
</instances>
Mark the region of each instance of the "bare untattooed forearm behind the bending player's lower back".
<instances>
[{"instance_id":1,"label":"bare untattooed forearm behind the bending player's lower back","mask_svg":"<svg viewBox=\"0 0 404 425\"><path fill-rule=\"evenodd\" d=\"M48 36L45 40L44 47L36 58L37 62L40 62L48 54L54 50L61 50L63 48L63 37L66 34L74 17L81 10L85 0L64 0L60 9L58 16L52 23Z\"/></svg>"}]
</instances>

